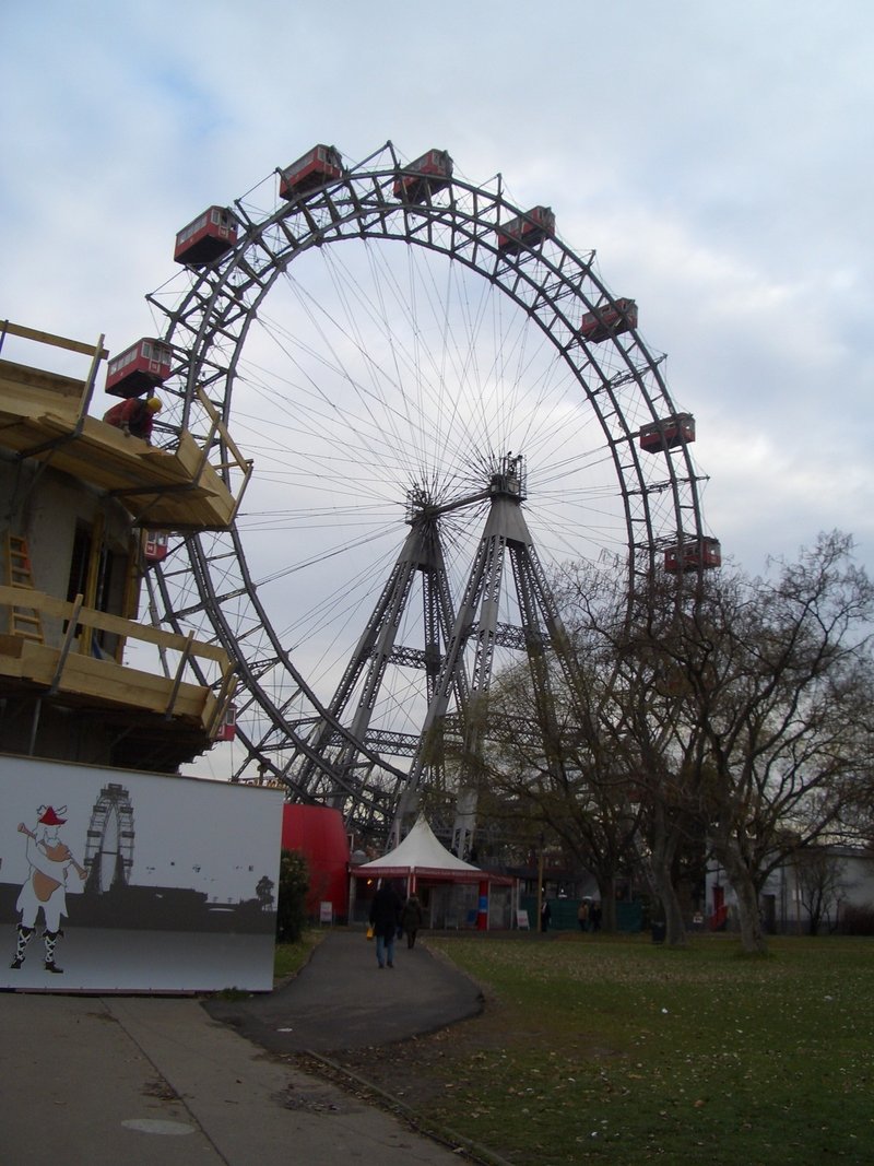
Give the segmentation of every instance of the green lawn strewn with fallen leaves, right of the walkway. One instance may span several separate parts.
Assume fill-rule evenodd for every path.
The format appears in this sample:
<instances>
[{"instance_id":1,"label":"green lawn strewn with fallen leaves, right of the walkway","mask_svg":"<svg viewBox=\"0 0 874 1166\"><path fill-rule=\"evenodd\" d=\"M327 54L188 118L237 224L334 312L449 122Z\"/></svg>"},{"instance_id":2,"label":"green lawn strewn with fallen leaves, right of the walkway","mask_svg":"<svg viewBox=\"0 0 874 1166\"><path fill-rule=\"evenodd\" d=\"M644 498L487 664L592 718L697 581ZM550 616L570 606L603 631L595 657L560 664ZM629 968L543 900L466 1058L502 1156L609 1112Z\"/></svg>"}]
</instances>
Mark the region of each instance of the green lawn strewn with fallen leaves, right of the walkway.
<instances>
[{"instance_id":1,"label":"green lawn strewn with fallen leaves, right of the walkway","mask_svg":"<svg viewBox=\"0 0 874 1166\"><path fill-rule=\"evenodd\" d=\"M509 1161L874 1163L872 940L775 939L766 960L732 936L428 943L487 1005L422 1056L417 1108Z\"/></svg>"}]
</instances>

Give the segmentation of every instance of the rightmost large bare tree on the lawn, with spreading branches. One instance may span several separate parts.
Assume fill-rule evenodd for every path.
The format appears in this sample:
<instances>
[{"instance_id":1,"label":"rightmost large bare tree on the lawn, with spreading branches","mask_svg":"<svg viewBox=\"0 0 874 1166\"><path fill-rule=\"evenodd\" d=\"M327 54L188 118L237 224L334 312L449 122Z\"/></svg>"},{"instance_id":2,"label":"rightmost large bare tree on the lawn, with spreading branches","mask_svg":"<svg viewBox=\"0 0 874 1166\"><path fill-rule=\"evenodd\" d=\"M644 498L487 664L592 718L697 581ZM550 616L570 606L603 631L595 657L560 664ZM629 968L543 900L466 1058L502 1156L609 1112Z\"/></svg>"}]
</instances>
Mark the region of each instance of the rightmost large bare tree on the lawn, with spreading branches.
<instances>
[{"instance_id":1,"label":"rightmost large bare tree on the lawn, with spreading branches","mask_svg":"<svg viewBox=\"0 0 874 1166\"><path fill-rule=\"evenodd\" d=\"M797 849L839 834L872 757L874 588L852 542L822 535L776 580L723 571L636 633L675 677L699 751L686 806L738 895L745 950L767 949L759 895Z\"/></svg>"}]
</instances>

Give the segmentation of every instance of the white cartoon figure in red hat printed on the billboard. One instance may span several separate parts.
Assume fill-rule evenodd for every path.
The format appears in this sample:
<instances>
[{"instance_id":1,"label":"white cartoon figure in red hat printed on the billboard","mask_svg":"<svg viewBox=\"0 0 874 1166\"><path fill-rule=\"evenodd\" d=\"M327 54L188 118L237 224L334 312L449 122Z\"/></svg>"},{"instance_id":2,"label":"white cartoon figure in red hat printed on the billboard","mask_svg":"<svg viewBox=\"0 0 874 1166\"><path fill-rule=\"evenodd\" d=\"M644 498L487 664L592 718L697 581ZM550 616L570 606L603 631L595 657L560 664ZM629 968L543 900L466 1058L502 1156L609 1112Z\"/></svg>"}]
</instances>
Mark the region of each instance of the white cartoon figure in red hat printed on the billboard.
<instances>
[{"instance_id":1,"label":"white cartoon figure in red hat printed on the billboard","mask_svg":"<svg viewBox=\"0 0 874 1166\"><path fill-rule=\"evenodd\" d=\"M84 880L87 871L76 862L66 843L58 837L58 828L66 822L66 819L61 816L66 813L66 806L59 806L57 810L51 806L41 806L36 813L40 817L35 831L28 830L23 822L19 822L19 834L27 837L26 855L30 873L15 904L15 909L21 912L21 921L17 926L15 958L10 967L20 968L23 964L24 949L36 929L36 919L42 908L45 970L59 975L64 969L55 963L55 944L64 934L61 930L61 919L66 915L68 872L72 868Z\"/></svg>"}]
</instances>

